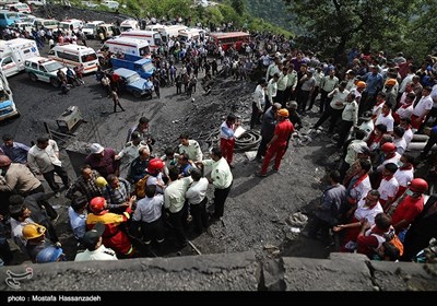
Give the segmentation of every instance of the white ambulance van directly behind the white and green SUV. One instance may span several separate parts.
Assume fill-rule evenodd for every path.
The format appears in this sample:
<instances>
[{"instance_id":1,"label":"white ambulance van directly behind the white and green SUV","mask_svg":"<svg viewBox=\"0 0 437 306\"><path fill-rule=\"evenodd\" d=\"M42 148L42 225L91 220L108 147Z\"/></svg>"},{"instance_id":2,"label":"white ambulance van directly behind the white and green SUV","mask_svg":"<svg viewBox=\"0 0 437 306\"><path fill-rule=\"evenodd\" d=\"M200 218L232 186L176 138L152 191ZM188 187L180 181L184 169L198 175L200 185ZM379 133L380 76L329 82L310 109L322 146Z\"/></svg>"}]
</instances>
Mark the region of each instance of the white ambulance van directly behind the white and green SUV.
<instances>
[{"instance_id":1,"label":"white ambulance van directly behind the white and green SUV","mask_svg":"<svg viewBox=\"0 0 437 306\"><path fill-rule=\"evenodd\" d=\"M55 46L48 57L70 68L83 64L83 73L97 71L98 60L94 49L74 44Z\"/></svg>"}]
</instances>

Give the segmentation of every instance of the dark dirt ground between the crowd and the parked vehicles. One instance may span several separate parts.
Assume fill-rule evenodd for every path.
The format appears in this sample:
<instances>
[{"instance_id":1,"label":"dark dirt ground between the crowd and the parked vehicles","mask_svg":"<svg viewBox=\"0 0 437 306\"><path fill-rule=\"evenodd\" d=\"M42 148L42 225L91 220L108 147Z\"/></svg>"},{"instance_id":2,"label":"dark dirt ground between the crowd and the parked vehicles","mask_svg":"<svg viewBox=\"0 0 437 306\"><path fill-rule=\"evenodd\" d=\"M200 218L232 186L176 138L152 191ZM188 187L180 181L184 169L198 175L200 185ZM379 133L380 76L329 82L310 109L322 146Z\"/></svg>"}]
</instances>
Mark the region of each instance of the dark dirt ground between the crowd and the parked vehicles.
<instances>
[{"instance_id":1,"label":"dark dirt ground between the crowd and the parked vehicles","mask_svg":"<svg viewBox=\"0 0 437 306\"><path fill-rule=\"evenodd\" d=\"M70 17L79 17L69 11ZM93 17L87 17L93 20ZM95 20L105 20L103 16ZM88 40L97 49L99 44ZM47 47L42 55L47 52ZM201 75L203 75L201 73ZM201 79L201 78L199 78ZM33 83L25 73L9 79L17 108L22 116L15 120L2 122L1 133L11 133L15 140L26 144L44 134L43 122L58 130L56 119L69 107L78 106L84 120L73 137L57 139L61 148L71 141L99 142L105 146L120 150L127 137L127 130L135 125L141 116L151 118L151 134L156 139L155 152L163 153L167 146L178 144L178 136L189 131L208 152L211 142L206 141L211 132L217 131L224 116L234 113L241 117L248 128L251 111L251 93L256 84L250 81L216 79L213 91L204 95L200 84L193 94L194 101L176 95L175 87L162 89L161 99L137 99L126 93L120 96L127 111L113 114L113 102L106 98L94 75L85 76L85 85L72 89L68 95L60 95L57 89L47 83ZM105 97L103 97L105 96ZM315 107L314 111L318 111ZM316 113L304 118L307 130L317 119ZM260 164L250 162L243 153L235 156L233 169L234 185L226 201L222 222L214 223L210 233L200 236L188 234L189 239L201 254L236 252L252 250L260 260L277 256L326 258L332 247L296 234L288 222L296 212L310 213L318 202L324 184L321 181L326 167L332 165L334 145L320 134L307 145L291 146L284 156L279 173L269 173L265 178L255 177ZM208 153L205 154L208 157ZM61 151L64 166L70 177L75 178L66 151ZM49 190L47 187L46 190ZM211 199L212 197L210 197ZM76 246L68 223L70 201L63 197L51 198L50 202L60 212L57 229L64 251L70 260L74 258ZM168 240L163 256L194 255L187 246L180 252ZM143 256L154 256L142 250ZM15 250L15 262L25 260Z\"/></svg>"}]
</instances>

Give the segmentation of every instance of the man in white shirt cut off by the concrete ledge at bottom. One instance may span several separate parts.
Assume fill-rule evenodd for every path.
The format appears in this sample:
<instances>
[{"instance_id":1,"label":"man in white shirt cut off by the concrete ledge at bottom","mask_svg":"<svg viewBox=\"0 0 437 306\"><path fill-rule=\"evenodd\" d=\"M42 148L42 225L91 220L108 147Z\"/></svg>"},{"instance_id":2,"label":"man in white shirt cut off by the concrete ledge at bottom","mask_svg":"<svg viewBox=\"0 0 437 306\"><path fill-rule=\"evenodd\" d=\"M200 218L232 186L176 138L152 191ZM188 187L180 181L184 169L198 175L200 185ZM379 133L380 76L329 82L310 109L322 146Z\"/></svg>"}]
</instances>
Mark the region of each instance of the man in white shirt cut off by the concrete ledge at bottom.
<instances>
[{"instance_id":1,"label":"man in white shirt cut off by the concrete ledge at bottom","mask_svg":"<svg viewBox=\"0 0 437 306\"><path fill-rule=\"evenodd\" d=\"M82 243L86 249L78 252L74 261L118 260L116 252L102 244L103 232L105 232L105 225L98 222L93 229L85 233Z\"/></svg>"}]
</instances>

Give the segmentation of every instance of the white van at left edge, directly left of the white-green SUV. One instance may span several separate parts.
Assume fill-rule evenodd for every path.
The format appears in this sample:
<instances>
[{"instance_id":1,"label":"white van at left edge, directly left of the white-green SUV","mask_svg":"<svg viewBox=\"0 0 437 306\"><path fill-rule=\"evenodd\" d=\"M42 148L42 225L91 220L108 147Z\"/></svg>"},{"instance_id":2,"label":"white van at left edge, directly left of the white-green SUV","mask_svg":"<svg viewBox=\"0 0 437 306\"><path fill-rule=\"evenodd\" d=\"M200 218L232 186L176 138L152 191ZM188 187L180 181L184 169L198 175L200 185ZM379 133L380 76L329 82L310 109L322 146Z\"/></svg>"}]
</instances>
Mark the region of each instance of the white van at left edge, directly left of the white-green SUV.
<instances>
[{"instance_id":1,"label":"white van at left edge, directly left of the white-green SUV","mask_svg":"<svg viewBox=\"0 0 437 306\"><path fill-rule=\"evenodd\" d=\"M5 76L24 70L24 61L36 56L39 56L39 50L33 39L0 40L0 67Z\"/></svg>"}]
</instances>

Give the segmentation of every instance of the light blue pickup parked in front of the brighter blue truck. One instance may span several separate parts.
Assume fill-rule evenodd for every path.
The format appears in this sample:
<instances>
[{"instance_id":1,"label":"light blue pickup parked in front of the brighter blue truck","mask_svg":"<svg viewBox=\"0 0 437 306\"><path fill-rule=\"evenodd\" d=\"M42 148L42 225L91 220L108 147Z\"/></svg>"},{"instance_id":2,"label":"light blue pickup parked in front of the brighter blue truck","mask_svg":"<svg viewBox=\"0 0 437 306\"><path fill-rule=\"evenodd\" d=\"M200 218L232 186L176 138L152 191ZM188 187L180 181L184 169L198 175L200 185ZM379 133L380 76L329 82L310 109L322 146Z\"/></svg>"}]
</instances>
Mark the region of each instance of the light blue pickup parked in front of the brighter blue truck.
<instances>
[{"instance_id":1,"label":"light blue pickup parked in front of the brighter blue truck","mask_svg":"<svg viewBox=\"0 0 437 306\"><path fill-rule=\"evenodd\" d=\"M149 80L142 79L135 71L118 68L114 70L113 74L120 76L123 89L131 92L134 97L142 97L149 95L152 97L153 83Z\"/></svg>"}]
</instances>

